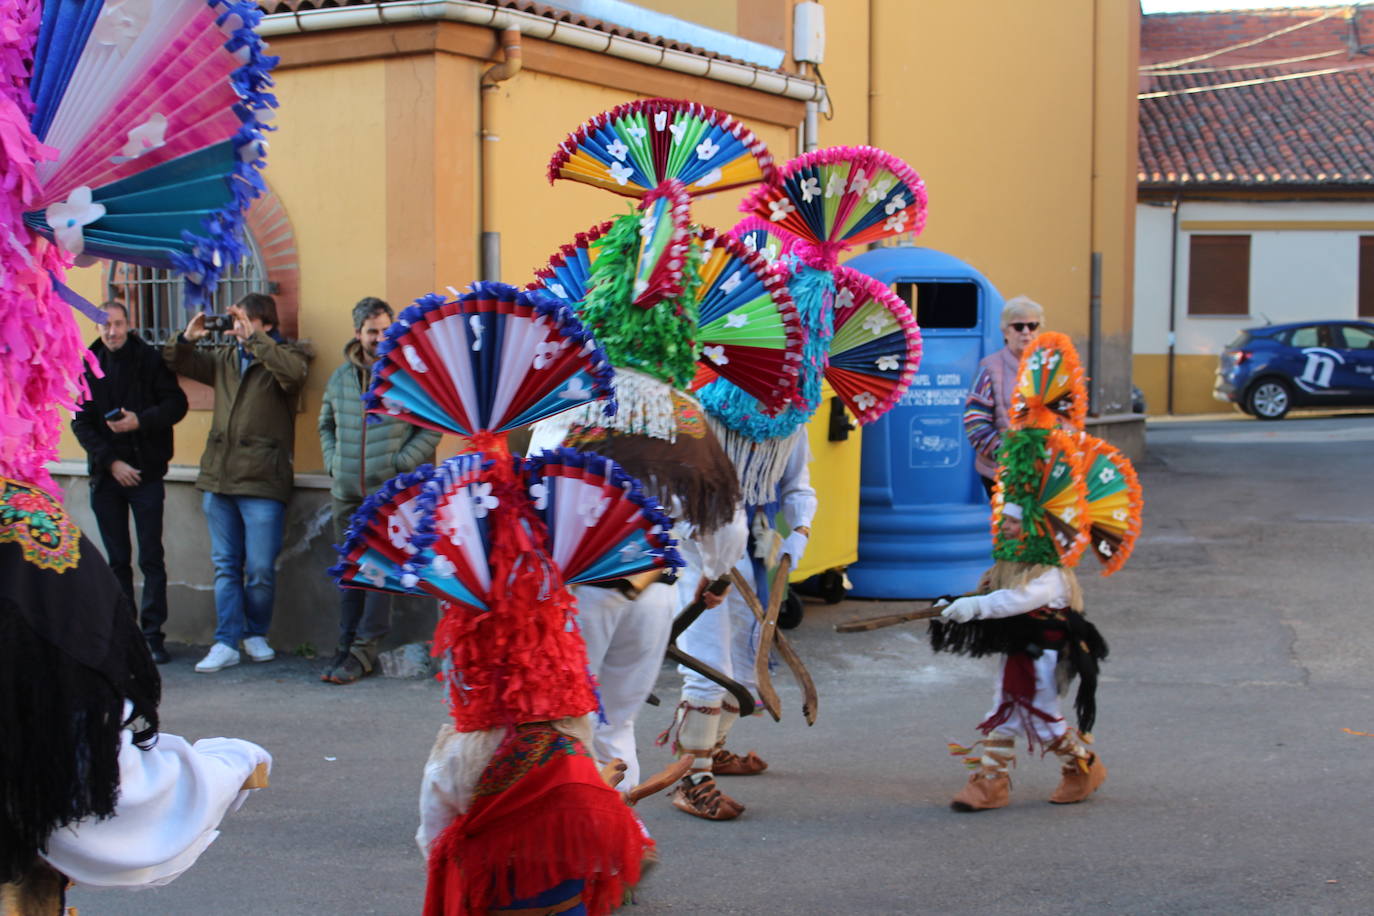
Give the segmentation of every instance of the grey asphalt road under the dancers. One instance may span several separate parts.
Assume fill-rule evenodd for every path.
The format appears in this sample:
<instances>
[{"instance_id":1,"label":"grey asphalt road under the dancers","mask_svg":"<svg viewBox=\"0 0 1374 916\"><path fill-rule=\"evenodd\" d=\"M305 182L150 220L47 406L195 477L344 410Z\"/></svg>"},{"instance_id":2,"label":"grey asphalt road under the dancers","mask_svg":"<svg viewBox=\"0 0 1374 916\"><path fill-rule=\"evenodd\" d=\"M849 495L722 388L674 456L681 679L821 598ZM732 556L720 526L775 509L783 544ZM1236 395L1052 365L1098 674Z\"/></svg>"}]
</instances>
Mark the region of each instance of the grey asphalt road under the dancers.
<instances>
[{"instance_id":1,"label":"grey asphalt road under the dancers","mask_svg":"<svg viewBox=\"0 0 1374 916\"><path fill-rule=\"evenodd\" d=\"M1146 529L1110 580L1084 578L1112 644L1098 750L1110 777L1051 806L1052 758L1022 755L1013 805L956 814L993 663L934 656L923 625L837 634L900 606L808 606L791 632L820 688L807 728L779 674L780 724L736 728L767 773L708 823L640 812L664 862L628 913L1374 912L1374 416L1154 423ZM174 612L174 611L173 611ZM320 608L331 614L333 608ZM338 688L282 659L166 672L164 726L276 755L273 784L199 864L153 891L76 891L87 915L419 912L415 788L442 720L437 685ZM665 669L665 698L676 676ZM665 707L640 721L644 768Z\"/></svg>"}]
</instances>

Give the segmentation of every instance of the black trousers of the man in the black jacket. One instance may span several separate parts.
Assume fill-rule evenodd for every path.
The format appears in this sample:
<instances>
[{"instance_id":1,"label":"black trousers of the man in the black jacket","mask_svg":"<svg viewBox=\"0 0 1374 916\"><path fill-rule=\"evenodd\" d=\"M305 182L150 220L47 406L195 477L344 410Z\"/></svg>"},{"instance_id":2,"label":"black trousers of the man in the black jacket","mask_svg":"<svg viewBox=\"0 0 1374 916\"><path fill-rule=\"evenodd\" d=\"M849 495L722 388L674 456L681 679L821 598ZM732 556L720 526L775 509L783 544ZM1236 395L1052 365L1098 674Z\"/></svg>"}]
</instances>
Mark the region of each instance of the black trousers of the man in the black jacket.
<instances>
[{"instance_id":1,"label":"black trousers of the man in the black jacket","mask_svg":"<svg viewBox=\"0 0 1374 916\"><path fill-rule=\"evenodd\" d=\"M162 640L168 619L168 569L162 553L162 479L137 486L120 486L109 474L91 478L91 509L100 526L100 540L110 570L120 581L131 607L139 607L139 626L150 641ZM133 600L133 549L129 542L129 512L139 536L139 571L143 573L143 604Z\"/></svg>"}]
</instances>

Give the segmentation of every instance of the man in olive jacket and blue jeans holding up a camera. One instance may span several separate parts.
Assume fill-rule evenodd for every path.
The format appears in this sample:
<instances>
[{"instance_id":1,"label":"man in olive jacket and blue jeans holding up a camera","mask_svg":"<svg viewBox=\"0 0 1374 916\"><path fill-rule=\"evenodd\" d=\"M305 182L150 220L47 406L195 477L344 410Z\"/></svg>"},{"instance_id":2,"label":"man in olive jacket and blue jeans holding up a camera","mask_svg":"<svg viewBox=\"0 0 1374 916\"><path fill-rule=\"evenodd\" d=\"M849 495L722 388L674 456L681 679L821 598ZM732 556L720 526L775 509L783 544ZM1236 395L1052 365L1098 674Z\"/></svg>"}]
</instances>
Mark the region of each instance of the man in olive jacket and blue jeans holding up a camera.
<instances>
[{"instance_id":1,"label":"man in olive jacket and blue jeans holding up a camera","mask_svg":"<svg viewBox=\"0 0 1374 916\"><path fill-rule=\"evenodd\" d=\"M311 368L309 349L276 330L276 301L249 293L229 308L232 345L201 349L209 331L196 314L164 358L176 372L214 387L214 417L195 486L210 527L214 562L214 645L195 666L212 673L239 663L239 641L254 662L268 645L276 555L291 499L295 401Z\"/></svg>"}]
</instances>

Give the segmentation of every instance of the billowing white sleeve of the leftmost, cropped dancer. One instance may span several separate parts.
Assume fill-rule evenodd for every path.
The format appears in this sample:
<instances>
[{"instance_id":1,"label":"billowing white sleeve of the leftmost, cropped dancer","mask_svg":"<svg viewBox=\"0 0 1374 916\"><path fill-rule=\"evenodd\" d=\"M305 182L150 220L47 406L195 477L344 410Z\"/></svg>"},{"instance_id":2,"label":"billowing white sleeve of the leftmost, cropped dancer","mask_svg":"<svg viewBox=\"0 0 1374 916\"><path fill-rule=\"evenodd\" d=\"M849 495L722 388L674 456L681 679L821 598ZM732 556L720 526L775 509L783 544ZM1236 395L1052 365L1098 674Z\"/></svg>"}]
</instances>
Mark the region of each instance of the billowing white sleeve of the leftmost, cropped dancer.
<instances>
[{"instance_id":1,"label":"billowing white sleeve of the leftmost, cropped dancer","mask_svg":"<svg viewBox=\"0 0 1374 916\"><path fill-rule=\"evenodd\" d=\"M249 792L243 783L272 755L236 737L195 744L166 732L151 750L121 735L114 816L59 828L44 858L78 884L158 887L191 868L220 835L224 816Z\"/></svg>"}]
</instances>

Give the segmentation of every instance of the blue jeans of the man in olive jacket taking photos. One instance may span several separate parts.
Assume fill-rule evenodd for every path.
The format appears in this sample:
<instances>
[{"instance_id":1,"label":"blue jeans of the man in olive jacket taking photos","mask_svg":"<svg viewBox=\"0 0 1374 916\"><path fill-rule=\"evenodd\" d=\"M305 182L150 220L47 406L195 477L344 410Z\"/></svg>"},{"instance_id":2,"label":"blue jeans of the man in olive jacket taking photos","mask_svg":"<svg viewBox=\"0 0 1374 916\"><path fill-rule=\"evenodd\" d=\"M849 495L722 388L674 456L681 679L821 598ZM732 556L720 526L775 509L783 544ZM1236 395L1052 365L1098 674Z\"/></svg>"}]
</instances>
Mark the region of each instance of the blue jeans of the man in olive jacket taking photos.
<instances>
[{"instance_id":1,"label":"blue jeans of the man in olive jacket taking photos","mask_svg":"<svg viewBox=\"0 0 1374 916\"><path fill-rule=\"evenodd\" d=\"M276 592L286 504L260 496L201 499L214 562L214 640L236 650L249 636L267 636Z\"/></svg>"}]
</instances>

